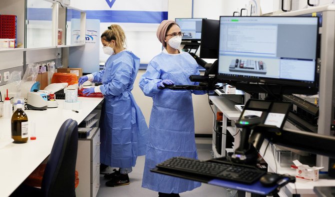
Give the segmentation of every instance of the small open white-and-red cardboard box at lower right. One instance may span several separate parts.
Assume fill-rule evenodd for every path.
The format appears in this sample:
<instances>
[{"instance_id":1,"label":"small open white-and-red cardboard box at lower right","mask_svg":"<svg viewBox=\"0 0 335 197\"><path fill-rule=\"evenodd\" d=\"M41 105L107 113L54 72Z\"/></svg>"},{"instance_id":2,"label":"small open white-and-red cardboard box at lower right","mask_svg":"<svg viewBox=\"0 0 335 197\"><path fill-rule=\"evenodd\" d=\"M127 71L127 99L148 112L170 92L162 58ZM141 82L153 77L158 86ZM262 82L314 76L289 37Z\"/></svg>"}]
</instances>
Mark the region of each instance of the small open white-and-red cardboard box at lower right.
<instances>
[{"instance_id":1,"label":"small open white-and-red cardboard box at lower right","mask_svg":"<svg viewBox=\"0 0 335 197\"><path fill-rule=\"evenodd\" d=\"M299 161L294 160L291 168L296 169L295 178L305 180L305 181L316 181L318 180L318 171L323 167L309 167L308 165L303 165Z\"/></svg>"}]
</instances>

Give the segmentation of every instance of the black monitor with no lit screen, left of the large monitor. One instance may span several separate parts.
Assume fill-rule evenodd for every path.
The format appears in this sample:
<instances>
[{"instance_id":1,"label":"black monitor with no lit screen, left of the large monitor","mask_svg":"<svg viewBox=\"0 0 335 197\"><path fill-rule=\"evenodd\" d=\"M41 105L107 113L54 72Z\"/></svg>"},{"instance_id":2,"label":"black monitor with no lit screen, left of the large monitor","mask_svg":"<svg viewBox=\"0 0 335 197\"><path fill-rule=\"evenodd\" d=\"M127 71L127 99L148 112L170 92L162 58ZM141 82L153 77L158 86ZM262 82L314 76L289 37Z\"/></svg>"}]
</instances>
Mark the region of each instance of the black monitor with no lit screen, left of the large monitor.
<instances>
[{"instance_id":1,"label":"black monitor with no lit screen, left of the large monitor","mask_svg":"<svg viewBox=\"0 0 335 197\"><path fill-rule=\"evenodd\" d=\"M218 58L218 39L220 21L202 19L200 57L207 59Z\"/></svg>"}]
</instances>

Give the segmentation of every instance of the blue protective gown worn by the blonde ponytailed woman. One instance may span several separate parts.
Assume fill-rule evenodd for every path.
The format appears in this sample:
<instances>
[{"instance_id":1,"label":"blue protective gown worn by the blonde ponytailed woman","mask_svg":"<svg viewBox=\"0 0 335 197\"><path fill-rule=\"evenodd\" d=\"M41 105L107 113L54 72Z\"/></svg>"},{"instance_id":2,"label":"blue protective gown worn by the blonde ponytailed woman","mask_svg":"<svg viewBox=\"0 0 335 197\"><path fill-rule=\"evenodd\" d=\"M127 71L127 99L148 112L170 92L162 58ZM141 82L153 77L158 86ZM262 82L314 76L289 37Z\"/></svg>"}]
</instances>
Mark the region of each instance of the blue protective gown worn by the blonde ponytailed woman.
<instances>
[{"instance_id":1,"label":"blue protective gown worn by the blonde ponytailed woman","mask_svg":"<svg viewBox=\"0 0 335 197\"><path fill-rule=\"evenodd\" d=\"M130 51L111 55L103 70L92 73L104 95L100 117L100 162L130 168L145 154L148 128L131 90L139 58Z\"/></svg>"}]
</instances>

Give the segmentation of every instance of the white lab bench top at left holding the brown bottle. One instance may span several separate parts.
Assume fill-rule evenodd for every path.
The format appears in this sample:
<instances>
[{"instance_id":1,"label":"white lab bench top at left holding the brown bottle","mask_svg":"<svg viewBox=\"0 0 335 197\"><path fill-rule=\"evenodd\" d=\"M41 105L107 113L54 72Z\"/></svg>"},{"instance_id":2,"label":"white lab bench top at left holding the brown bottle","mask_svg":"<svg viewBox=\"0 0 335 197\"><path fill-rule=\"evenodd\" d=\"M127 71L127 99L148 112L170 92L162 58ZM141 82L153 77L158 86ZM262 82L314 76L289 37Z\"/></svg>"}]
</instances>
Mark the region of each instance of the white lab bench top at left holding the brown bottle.
<instances>
[{"instance_id":1,"label":"white lab bench top at left holding the brown bottle","mask_svg":"<svg viewBox=\"0 0 335 197\"><path fill-rule=\"evenodd\" d=\"M24 144L12 143L10 119L0 118L0 132L4 133L4 139L0 140L0 196L9 196L50 154L57 132L65 120L71 118L79 124L102 100L78 97L80 104L73 105L73 109L79 113L63 109L64 100L57 100L57 108L25 110L29 130L31 123L35 122L36 140L28 140Z\"/></svg>"}]
</instances>

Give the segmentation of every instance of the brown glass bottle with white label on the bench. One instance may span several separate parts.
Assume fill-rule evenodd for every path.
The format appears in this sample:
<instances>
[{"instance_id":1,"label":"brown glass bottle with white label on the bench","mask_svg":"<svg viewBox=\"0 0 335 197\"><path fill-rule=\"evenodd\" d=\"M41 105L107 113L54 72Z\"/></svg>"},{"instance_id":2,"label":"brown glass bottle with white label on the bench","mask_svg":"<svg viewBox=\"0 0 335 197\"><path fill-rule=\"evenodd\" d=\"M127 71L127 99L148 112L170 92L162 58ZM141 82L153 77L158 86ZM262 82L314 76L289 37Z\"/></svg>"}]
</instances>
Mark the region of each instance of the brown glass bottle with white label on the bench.
<instances>
[{"instance_id":1,"label":"brown glass bottle with white label on the bench","mask_svg":"<svg viewBox=\"0 0 335 197\"><path fill-rule=\"evenodd\" d=\"M22 110L22 104L16 104L17 110L11 116L11 138L13 143L21 144L28 141L28 117Z\"/></svg>"}]
</instances>

